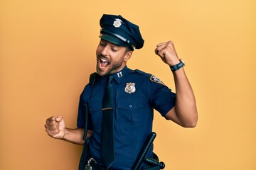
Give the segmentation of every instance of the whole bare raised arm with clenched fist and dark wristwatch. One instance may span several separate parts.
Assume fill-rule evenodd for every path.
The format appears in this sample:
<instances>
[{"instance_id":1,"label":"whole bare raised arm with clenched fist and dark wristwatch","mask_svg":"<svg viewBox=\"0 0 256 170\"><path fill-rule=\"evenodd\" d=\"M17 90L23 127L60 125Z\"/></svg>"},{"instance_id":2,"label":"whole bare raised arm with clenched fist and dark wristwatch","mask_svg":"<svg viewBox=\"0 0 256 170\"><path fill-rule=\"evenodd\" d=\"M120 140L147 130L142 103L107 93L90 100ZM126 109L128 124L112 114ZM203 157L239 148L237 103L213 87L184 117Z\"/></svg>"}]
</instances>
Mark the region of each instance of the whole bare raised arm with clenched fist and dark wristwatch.
<instances>
[{"instance_id":1,"label":"whole bare raised arm with clenched fist and dark wristwatch","mask_svg":"<svg viewBox=\"0 0 256 170\"><path fill-rule=\"evenodd\" d=\"M196 100L189 83L183 64L178 59L178 55L171 41L162 42L156 45L156 55L161 57L164 63L173 67L174 81L176 86L176 104L174 108L166 113L165 118L173 120L183 127L195 127L198 120ZM178 67L178 68L177 68Z\"/></svg>"}]
</instances>

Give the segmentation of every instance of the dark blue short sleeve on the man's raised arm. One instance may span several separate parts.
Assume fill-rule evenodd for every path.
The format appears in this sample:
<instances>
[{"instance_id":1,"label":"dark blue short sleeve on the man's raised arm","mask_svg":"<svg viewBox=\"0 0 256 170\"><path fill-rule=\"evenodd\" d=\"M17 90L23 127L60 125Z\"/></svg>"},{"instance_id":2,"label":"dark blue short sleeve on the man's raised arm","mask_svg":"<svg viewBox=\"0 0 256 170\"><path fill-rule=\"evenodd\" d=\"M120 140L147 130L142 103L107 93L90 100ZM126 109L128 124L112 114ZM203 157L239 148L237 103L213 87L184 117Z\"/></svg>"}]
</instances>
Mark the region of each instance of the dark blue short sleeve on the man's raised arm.
<instances>
[{"instance_id":1,"label":"dark blue short sleeve on the man's raised arm","mask_svg":"<svg viewBox=\"0 0 256 170\"><path fill-rule=\"evenodd\" d=\"M162 116L166 115L175 106L176 94L161 81L152 81L150 79L149 84L152 91L151 106Z\"/></svg>"}]
</instances>

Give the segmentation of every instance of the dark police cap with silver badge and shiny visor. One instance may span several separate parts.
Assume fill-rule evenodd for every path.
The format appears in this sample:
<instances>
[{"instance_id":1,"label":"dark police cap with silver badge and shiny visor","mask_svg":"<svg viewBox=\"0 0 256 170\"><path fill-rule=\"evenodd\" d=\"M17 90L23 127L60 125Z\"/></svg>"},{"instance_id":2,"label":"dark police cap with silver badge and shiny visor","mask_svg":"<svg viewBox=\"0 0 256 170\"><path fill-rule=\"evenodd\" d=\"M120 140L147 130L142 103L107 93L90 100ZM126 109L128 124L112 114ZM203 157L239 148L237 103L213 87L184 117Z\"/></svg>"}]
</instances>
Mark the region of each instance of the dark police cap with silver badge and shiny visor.
<instances>
[{"instance_id":1,"label":"dark police cap with silver badge and shiny visor","mask_svg":"<svg viewBox=\"0 0 256 170\"><path fill-rule=\"evenodd\" d=\"M100 18L100 38L115 45L140 49L144 40L139 32L139 26L127 21L122 16L104 14Z\"/></svg>"}]
</instances>

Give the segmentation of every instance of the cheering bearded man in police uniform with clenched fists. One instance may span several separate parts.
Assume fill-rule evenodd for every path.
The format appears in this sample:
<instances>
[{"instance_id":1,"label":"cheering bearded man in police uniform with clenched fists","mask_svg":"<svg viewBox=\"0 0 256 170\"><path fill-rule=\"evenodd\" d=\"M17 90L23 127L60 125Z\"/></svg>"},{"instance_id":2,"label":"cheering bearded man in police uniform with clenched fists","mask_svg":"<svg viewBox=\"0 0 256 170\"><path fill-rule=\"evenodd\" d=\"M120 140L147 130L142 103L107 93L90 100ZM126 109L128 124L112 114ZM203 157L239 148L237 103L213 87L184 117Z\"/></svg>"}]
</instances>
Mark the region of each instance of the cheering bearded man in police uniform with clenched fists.
<instances>
[{"instance_id":1,"label":"cheering bearded man in police uniform with clenched fists","mask_svg":"<svg viewBox=\"0 0 256 170\"><path fill-rule=\"evenodd\" d=\"M155 53L171 68L176 94L153 75L127 67L134 49L144 45L137 25L122 16L103 15L100 26L97 74L91 75L80 96L78 128L66 128L58 115L46 120L46 132L78 145L85 145L87 139L86 162L82 161L87 167L130 170L152 132L153 110L193 128L198 120L196 101L173 42L160 43ZM152 155L151 147L146 157Z\"/></svg>"}]
</instances>

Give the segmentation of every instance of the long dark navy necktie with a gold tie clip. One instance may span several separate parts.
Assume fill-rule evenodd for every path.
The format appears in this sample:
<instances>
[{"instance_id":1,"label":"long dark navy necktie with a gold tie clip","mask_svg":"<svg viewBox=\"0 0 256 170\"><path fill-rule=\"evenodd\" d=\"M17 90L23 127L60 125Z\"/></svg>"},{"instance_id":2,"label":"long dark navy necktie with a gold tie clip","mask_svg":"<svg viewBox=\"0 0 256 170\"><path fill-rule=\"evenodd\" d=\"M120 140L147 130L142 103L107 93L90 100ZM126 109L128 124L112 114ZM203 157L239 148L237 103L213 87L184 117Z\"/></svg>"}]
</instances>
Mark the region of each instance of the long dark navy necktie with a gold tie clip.
<instances>
[{"instance_id":1,"label":"long dark navy necktie with a gold tie clip","mask_svg":"<svg viewBox=\"0 0 256 170\"><path fill-rule=\"evenodd\" d=\"M106 168L114 162L114 113L113 113L113 89L111 81L114 77L108 77L107 87L102 101L102 164Z\"/></svg>"}]
</instances>

